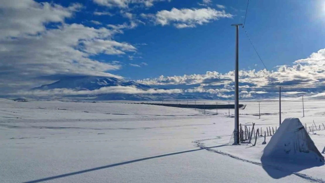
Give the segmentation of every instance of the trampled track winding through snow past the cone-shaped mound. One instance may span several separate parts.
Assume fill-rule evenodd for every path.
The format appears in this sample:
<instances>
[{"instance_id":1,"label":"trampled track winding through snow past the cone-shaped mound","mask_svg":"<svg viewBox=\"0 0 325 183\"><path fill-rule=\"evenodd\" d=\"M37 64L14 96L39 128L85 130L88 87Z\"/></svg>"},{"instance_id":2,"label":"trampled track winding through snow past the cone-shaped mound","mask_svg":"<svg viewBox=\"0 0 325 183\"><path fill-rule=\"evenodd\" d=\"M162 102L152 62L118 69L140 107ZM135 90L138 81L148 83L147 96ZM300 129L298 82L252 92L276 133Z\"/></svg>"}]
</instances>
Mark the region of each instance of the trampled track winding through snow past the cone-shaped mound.
<instances>
[{"instance_id":1,"label":"trampled track winding through snow past the cone-shaped mound","mask_svg":"<svg viewBox=\"0 0 325 183\"><path fill-rule=\"evenodd\" d=\"M220 138L220 137L219 137ZM245 159L242 159L240 157L237 157L237 156L234 156L232 154L229 154L229 153L226 153L226 152L222 152L220 150L214 150L214 149L211 149L211 148L208 148L204 145L203 141L206 141L206 140L214 140L214 139L219 139L219 138L209 138L209 139L201 139L201 140L195 140L193 141L195 144L196 144L196 147L199 147L201 149L205 149L207 151L210 151L210 152L215 152L215 153L218 153L218 154L222 154L222 155L225 155L225 156L229 156L231 158L234 158L236 160L240 160L242 162L246 162L246 163L252 163L252 164L256 164L256 165L259 165L259 166L263 166L262 163L257 163L257 162L253 162L253 161L250 161L250 160L245 160ZM272 167L274 169L277 169L277 170L280 170L280 171L287 171L285 169L282 169L280 167L277 167L277 166L273 166L273 165L264 165L264 166L269 166L269 167ZM306 180L310 180L310 181L313 181L313 182L318 182L318 183L325 183L325 181L321 178L314 178L312 176L308 176L306 174L301 174L301 173L297 173L297 172L293 172L292 174L296 175L296 176L299 176L303 179L306 179Z\"/></svg>"}]
</instances>

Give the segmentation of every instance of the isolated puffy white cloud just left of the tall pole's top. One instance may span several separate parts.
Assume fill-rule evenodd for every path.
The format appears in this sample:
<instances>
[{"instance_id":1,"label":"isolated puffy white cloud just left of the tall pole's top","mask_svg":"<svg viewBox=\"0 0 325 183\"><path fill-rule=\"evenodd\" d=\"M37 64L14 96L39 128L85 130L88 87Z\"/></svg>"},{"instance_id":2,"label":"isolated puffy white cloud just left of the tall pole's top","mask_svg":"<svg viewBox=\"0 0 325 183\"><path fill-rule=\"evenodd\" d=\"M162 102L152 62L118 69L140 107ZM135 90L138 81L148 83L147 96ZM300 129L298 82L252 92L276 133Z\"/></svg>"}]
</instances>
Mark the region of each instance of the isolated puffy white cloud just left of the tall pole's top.
<instances>
[{"instance_id":1,"label":"isolated puffy white cloud just left of the tall pole's top","mask_svg":"<svg viewBox=\"0 0 325 183\"><path fill-rule=\"evenodd\" d=\"M232 18L233 15L223 11L208 8L177 9L158 11L155 15L141 14L143 18L154 19L156 24L162 26L173 24L176 28L196 27L220 18Z\"/></svg>"}]
</instances>

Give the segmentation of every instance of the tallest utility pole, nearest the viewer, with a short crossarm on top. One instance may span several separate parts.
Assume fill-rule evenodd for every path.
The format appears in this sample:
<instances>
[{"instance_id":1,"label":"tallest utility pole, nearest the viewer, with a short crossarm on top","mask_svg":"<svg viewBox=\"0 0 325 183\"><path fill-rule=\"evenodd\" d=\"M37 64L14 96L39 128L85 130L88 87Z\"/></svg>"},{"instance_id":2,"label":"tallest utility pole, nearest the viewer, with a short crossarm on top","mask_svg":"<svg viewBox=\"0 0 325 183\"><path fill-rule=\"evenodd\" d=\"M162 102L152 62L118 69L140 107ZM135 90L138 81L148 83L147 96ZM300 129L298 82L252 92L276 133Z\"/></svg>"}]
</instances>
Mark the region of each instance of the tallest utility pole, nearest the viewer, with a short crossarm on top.
<instances>
[{"instance_id":1,"label":"tallest utility pole, nearest the viewer, with a short crossarm on top","mask_svg":"<svg viewBox=\"0 0 325 183\"><path fill-rule=\"evenodd\" d=\"M235 130L234 130L234 144L239 144L239 87L238 87L238 67L239 67L239 53L238 53L238 43L239 43L239 26L243 24L231 24L231 26L236 26L236 55L235 55Z\"/></svg>"}]
</instances>

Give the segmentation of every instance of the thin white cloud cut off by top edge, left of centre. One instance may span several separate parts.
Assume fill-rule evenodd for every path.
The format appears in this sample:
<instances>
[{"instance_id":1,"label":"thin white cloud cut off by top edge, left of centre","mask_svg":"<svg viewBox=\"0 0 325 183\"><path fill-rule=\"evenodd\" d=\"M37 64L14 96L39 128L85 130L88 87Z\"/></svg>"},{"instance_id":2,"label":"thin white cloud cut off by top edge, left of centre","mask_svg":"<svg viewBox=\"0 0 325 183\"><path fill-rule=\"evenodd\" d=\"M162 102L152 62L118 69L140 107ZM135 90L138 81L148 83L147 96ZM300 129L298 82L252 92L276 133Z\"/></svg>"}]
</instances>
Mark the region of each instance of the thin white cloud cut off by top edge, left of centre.
<instances>
[{"instance_id":1,"label":"thin white cloud cut off by top edge, left of centre","mask_svg":"<svg viewBox=\"0 0 325 183\"><path fill-rule=\"evenodd\" d=\"M170 0L93 0L95 3L106 7L119 7L128 8L129 5L143 5L145 7L152 7L155 2L168 1Z\"/></svg>"}]
</instances>

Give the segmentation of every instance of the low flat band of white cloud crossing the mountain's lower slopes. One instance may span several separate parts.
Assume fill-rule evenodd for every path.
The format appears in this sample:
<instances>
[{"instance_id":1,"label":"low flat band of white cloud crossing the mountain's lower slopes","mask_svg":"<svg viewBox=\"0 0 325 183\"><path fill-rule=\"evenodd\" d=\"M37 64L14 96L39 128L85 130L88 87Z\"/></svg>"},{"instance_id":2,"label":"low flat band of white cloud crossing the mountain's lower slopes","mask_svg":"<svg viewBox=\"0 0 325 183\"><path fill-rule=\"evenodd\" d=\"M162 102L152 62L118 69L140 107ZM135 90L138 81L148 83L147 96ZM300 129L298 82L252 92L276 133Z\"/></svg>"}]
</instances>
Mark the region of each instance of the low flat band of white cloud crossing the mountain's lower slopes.
<instances>
[{"instance_id":1,"label":"low flat band of white cloud crossing the mountain's lower slopes","mask_svg":"<svg viewBox=\"0 0 325 183\"><path fill-rule=\"evenodd\" d=\"M64 96L64 95L98 95L98 94L110 94L110 93L123 93L123 94L173 94L183 93L180 89L148 89L142 90L133 86L107 86L101 87L96 90L72 90L67 88L57 88L51 90L32 90L32 91L19 91L11 93L10 95L18 96Z\"/></svg>"}]
</instances>

